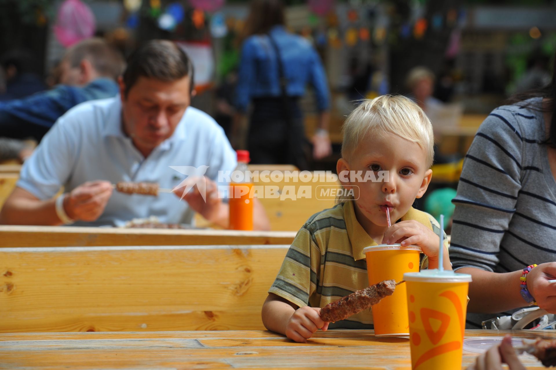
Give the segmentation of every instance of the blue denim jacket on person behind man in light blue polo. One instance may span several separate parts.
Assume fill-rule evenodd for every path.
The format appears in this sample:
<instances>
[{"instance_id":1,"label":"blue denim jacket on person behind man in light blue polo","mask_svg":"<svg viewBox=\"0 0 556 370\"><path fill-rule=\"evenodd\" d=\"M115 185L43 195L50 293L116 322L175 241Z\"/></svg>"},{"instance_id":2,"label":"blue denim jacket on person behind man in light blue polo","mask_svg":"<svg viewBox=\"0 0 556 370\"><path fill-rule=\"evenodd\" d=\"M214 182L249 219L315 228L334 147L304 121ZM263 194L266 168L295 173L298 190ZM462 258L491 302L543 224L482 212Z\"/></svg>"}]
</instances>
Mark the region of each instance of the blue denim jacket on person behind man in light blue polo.
<instances>
[{"instance_id":1,"label":"blue denim jacket on person behind man in light blue polo","mask_svg":"<svg viewBox=\"0 0 556 370\"><path fill-rule=\"evenodd\" d=\"M97 78L83 87L57 85L26 98L3 101L0 102L0 132L2 125L12 124L14 120L52 127L59 117L79 103L113 97L117 93L118 85L111 78Z\"/></svg>"}]
</instances>

